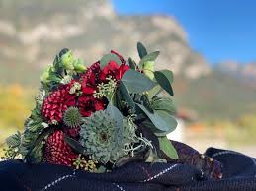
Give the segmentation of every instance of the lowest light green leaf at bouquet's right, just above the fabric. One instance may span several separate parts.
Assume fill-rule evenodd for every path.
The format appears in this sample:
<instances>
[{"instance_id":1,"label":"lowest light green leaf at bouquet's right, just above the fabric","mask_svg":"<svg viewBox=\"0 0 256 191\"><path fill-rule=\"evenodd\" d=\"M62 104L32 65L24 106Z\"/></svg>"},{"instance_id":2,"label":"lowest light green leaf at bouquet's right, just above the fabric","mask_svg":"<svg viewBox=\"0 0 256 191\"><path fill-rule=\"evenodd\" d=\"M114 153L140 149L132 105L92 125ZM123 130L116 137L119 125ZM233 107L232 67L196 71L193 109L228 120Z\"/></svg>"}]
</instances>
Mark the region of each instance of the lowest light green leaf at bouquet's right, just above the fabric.
<instances>
[{"instance_id":1,"label":"lowest light green leaf at bouquet's right, just above the fabric","mask_svg":"<svg viewBox=\"0 0 256 191\"><path fill-rule=\"evenodd\" d=\"M171 159L179 159L177 151L167 137L158 137L160 150Z\"/></svg>"}]
</instances>

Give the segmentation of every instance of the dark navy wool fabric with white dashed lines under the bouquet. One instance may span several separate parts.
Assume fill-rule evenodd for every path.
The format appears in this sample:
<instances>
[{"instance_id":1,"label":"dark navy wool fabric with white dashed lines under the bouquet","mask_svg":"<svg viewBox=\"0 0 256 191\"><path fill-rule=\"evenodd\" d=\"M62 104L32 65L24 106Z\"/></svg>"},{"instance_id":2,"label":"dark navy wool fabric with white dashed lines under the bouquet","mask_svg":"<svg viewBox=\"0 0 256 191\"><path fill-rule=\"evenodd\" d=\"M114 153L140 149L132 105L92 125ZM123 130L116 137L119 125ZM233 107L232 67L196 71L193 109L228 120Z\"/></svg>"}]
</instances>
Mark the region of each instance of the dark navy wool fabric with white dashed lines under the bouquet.
<instances>
[{"instance_id":1,"label":"dark navy wool fabric with white dashed lines under the bouquet","mask_svg":"<svg viewBox=\"0 0 256 191\"><path fill-rule=\"evenodd\" d=\"M194 166L179 163L132 162L111 173L86 173L48 163L25 164L18 160L0 163L1 191L253 191L256 190L256 159L210 148L206 156L220 161L223 178L209 180Z\"/></svg>"}]
</instances>

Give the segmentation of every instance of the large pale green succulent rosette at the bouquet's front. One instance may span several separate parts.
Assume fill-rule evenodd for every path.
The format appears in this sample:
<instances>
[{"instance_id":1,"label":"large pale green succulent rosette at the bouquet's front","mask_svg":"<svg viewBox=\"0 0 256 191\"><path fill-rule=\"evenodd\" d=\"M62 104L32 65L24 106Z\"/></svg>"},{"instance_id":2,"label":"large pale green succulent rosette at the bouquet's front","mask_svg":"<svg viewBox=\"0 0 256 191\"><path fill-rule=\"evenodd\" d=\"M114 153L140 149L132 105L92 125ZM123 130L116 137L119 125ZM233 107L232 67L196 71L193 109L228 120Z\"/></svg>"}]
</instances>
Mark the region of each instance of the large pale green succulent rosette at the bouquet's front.
<instances>
[{"instance_id":1,"label":"large pale green succulent rosette at the bouquet's front","mask_svg":"<svg viewBox=\"0 0 256 191\"><path fill-rule=\"evenodd\" d=\"M84 118L80 136L86 152L101 163L114 163L125 155L123 116L114 106Z\"/></svg>"}]
</instances>

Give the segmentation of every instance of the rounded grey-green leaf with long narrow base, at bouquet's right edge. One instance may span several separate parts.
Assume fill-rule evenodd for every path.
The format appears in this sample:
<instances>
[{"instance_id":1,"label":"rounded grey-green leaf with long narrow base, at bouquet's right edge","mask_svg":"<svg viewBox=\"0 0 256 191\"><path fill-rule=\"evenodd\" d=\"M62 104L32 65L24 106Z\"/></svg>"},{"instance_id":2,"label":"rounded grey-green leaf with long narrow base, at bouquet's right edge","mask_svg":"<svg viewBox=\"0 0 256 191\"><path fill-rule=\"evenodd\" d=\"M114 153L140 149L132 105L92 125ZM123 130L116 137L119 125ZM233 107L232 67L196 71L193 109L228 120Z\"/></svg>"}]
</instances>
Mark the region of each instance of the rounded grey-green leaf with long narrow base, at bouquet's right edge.
<instances>
[{"instance_id":1,"label":"rounded grey-green leaf with long narrow base, at bouquet's right edge","mask_svg":"<svg viewBox=\"0 0 256 191\"><path fill-rule=\"evenodd\" d=\"M157 133L159 133L159 131L161 133L172 132L177 127L176 119L173 118L167 112L163 110L154 110L154 113L151 113L143 105L141 104L136 104L136 105L144 112L144 114L149 118L149 120L157 128L157 131L155 132Z\"/></svg>"}]
</instances>

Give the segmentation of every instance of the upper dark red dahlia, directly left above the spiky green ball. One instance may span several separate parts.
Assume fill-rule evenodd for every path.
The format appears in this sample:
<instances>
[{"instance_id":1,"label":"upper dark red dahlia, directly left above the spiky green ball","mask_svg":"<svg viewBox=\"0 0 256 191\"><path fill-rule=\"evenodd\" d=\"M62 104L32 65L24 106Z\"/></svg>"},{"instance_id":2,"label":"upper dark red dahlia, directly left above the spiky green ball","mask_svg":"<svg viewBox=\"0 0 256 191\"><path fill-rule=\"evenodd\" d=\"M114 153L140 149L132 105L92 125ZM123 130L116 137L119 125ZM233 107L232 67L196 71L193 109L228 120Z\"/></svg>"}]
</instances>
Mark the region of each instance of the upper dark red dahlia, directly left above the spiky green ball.
<instances>
[{"instance_id":1,"label":"upper dark red dahlia, directly left above the spiky green ball","mask_svg":"<svg viewBox=\"0 0 256 191\"><path fill-rule=\"evenodd\" d=\"M70 85L59 87L43 100L43 119L51 123L62 121L63 113L69 106L75 106L75 96L69 94Z\"/></svg>"}]
</instances>

